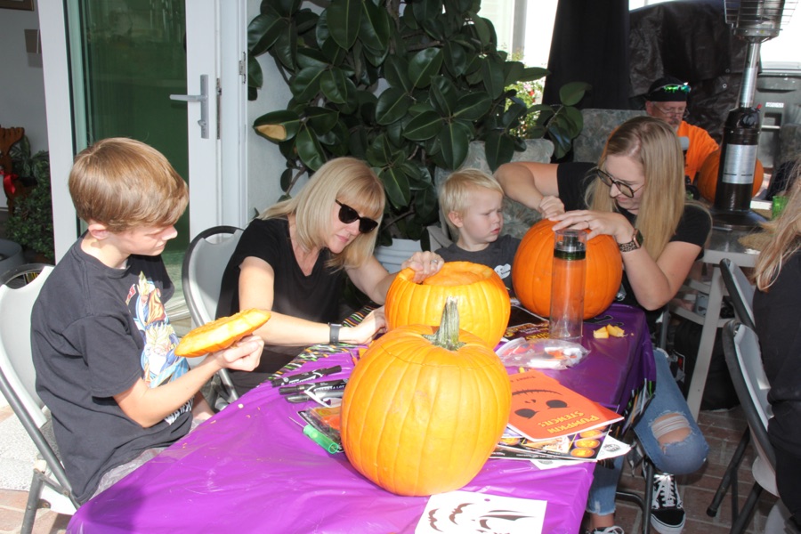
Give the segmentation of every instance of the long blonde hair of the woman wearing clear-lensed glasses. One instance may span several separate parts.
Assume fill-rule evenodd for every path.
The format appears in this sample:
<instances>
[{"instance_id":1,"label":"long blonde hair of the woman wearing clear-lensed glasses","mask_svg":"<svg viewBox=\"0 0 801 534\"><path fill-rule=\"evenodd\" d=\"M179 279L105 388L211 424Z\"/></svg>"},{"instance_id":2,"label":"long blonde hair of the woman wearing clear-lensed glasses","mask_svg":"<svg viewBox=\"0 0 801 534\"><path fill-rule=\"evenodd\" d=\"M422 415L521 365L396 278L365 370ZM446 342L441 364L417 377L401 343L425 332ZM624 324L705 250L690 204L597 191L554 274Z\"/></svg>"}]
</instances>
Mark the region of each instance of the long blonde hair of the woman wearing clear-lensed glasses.
<instances>
[{"instance_id":1,"label":"long blonde hair of the woman wearing clear-lensed glasses","mask_svg":"<svg viewBox=\"0 0 801 534\"><path fill-rule=\"evenodd\" d=\"M676 234L687 202L684 157L676 132L659 118L630 118L611 133L598 166L603 169L610 156L632 158L643 169L645 183L635 225L643 234L645 250L656 260ZM600 180L592 182L587 189L587 206L617 211L610 189Z\"/></svg>"}]
</instances>

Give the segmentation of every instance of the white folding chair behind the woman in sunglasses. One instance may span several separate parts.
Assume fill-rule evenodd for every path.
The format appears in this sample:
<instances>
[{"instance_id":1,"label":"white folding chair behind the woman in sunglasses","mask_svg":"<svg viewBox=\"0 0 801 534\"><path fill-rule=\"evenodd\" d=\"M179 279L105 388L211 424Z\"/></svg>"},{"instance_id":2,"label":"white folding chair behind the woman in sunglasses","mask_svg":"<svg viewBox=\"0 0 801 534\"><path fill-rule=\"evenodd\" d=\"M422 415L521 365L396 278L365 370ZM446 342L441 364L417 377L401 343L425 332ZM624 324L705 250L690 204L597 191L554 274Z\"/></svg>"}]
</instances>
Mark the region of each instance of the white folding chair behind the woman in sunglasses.
<instances>
[{"instance_id":1,"label":"white folding chair behind the woman in sunglasses","mask_svg":"<svg viewBox=\"0 0 801 534\"><path fill-rule=\"evenodd\" d=\"M201 231L192 239L183 256L181 279L183 296L195 327L214 320L223 271L242 236L242 229L234 226L214 226ZM227 404L239 398L226 369L218 373L223 383L221 396Z\"/></svg>"}]
</instances>

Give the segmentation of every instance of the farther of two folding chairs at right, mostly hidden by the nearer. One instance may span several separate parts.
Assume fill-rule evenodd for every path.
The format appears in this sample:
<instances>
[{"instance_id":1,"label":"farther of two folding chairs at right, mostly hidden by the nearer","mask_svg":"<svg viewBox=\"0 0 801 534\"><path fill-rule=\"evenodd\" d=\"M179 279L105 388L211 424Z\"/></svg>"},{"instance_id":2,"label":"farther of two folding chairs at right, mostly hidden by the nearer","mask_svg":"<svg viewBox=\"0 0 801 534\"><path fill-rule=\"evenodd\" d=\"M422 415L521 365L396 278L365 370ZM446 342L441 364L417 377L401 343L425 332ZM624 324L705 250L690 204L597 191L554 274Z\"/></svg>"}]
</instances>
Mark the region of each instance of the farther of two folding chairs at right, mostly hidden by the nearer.
<instances>
[{"instance_id":1,"label":"farther of two folding chairs at right, mostly hidden by the nearer","mask_svg":"<svg viewBox=\"0 0 801 534\"><path fill-rule=\"evenodd\" d=\"M740 267L728 258L720 261L720 274L726 287L726 292L729 294L729 299L734 308L734 315L741 324L754 330L754 311L752 303L754 301L754 287L751 286L745 273ZM726 495L726 491L732 490L732 506L737 506L738 493L737 493L737 470L742 463L742 457L748 448L748 442L751 440L751 431L746 426L740 438L740 443L737 449L734 449L729 465L726 467L720 485L717 487L715 497L712 498L712 503L707 508L707 515L715 517L720 508L720 504Z\"/></svg>"}]
</instances>

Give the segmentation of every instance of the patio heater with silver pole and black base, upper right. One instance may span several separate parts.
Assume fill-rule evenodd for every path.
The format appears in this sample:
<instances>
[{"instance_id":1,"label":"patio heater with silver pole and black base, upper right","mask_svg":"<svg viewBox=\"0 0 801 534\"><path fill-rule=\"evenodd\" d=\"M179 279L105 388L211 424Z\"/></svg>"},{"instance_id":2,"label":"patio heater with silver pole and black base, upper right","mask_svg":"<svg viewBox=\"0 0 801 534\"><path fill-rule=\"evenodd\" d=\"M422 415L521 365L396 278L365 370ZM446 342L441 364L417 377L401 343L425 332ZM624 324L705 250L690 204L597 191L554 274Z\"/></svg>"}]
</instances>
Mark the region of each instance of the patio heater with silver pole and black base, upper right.
<instances>
[{"instance_id":1,"label":"patio heater with silver pole and black base, upper right","mask_svg":"<svg viewBox=\"0 0 801 534\"><path fill-rule=\"evenodd\" d=\"M762 125L754 107L759 48L779 35L795 9L796 0L725 0L726 24L735 36L748 41L746 65L740 85L739 107L726 117L720 165L717 171L714 226L726 230L748 230L765 218L751 211L754 167Z\"/></svg>"}]
</instances>

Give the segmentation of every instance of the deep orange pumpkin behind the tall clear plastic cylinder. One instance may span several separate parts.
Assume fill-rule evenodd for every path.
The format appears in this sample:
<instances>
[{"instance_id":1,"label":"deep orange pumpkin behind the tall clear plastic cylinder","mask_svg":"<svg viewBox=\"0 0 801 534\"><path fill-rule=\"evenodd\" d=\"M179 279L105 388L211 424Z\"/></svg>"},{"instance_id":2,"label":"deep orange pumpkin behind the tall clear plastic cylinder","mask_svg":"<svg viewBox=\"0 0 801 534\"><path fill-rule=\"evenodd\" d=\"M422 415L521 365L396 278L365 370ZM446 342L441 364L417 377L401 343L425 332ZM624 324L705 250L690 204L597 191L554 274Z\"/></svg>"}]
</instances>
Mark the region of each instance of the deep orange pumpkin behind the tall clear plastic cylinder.
<instances>
[{"instance_id":1,"label":"deep orange pumpkin behind the tall clear plastic cylinder","mask_svg":"<svg viewBox=\"0 0 801 534\"><path fill-rule=\"evenodd\" d=\"M542 317L551 312L554 224L543 219L532 226L523 236L512 264L514 295L526 309ZM586 261L584 319L591 319L606 310L618 294L623 260L615 239L603 235L587 241Z\"/></svg>"}]
</instances>

